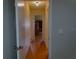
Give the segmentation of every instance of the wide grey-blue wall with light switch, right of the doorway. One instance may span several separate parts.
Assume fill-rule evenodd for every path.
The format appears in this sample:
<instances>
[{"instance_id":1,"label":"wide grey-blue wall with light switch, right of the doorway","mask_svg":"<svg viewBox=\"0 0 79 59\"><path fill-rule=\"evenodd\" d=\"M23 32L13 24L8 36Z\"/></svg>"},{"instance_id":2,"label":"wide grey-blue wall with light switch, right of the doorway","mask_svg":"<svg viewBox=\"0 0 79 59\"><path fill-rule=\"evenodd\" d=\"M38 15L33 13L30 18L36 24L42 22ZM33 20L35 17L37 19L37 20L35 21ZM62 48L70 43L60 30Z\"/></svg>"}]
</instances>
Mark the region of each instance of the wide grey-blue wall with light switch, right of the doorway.
<instances>
[{"instance_id":1,"label":"wide grey-blue wall with light switch, right of the doorway","mask_svg":"<svg viewBox=\"0 0 79 59\"><path fill-rule=\"evenodd\" d=\"M49 59L76 59L75 0L50 0Z\"/></svg>"}]
</instances>

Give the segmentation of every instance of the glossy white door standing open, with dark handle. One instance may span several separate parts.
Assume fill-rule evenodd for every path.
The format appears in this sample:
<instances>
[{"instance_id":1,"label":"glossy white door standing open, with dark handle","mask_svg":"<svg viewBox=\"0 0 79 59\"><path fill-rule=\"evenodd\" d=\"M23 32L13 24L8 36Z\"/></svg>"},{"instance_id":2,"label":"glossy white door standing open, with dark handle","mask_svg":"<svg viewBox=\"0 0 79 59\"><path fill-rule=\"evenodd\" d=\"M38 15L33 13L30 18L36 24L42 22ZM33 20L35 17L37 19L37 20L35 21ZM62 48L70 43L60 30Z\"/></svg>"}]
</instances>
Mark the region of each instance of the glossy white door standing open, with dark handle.
<instances>
[{"instance_id":1,"label":"glossy white door standing open, with dark handle","mask_svg":"<svg viewBox=\"0 0 79 59\"><path fill-rule=\"evenodd\" d=\"M25 14L25 2L17 2L16 6L16 34L17 59L25 59L30 47L30 21Z\"/></svg>"}]
</instances>

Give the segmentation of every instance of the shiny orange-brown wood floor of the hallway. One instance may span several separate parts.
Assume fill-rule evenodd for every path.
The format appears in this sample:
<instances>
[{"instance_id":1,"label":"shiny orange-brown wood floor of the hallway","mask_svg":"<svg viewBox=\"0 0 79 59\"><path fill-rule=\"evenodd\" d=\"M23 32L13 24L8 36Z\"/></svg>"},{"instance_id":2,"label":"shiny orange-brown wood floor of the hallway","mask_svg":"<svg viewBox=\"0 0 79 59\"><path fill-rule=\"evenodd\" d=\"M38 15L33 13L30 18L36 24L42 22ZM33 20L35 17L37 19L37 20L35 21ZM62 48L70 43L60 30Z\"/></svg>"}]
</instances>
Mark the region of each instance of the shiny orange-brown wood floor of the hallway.
<instances>
[{"instance_id":1,"label":"shiny orange-brown wood floor of the hallway","mask_svg":"<svg viewBox=\"0 0 79 59\"><path fill-rule=\"evenodd\" d=\"M45 42L40 40L32 42L26 59L48 59L48 49Z\"/></svg>"}]
</instances>

